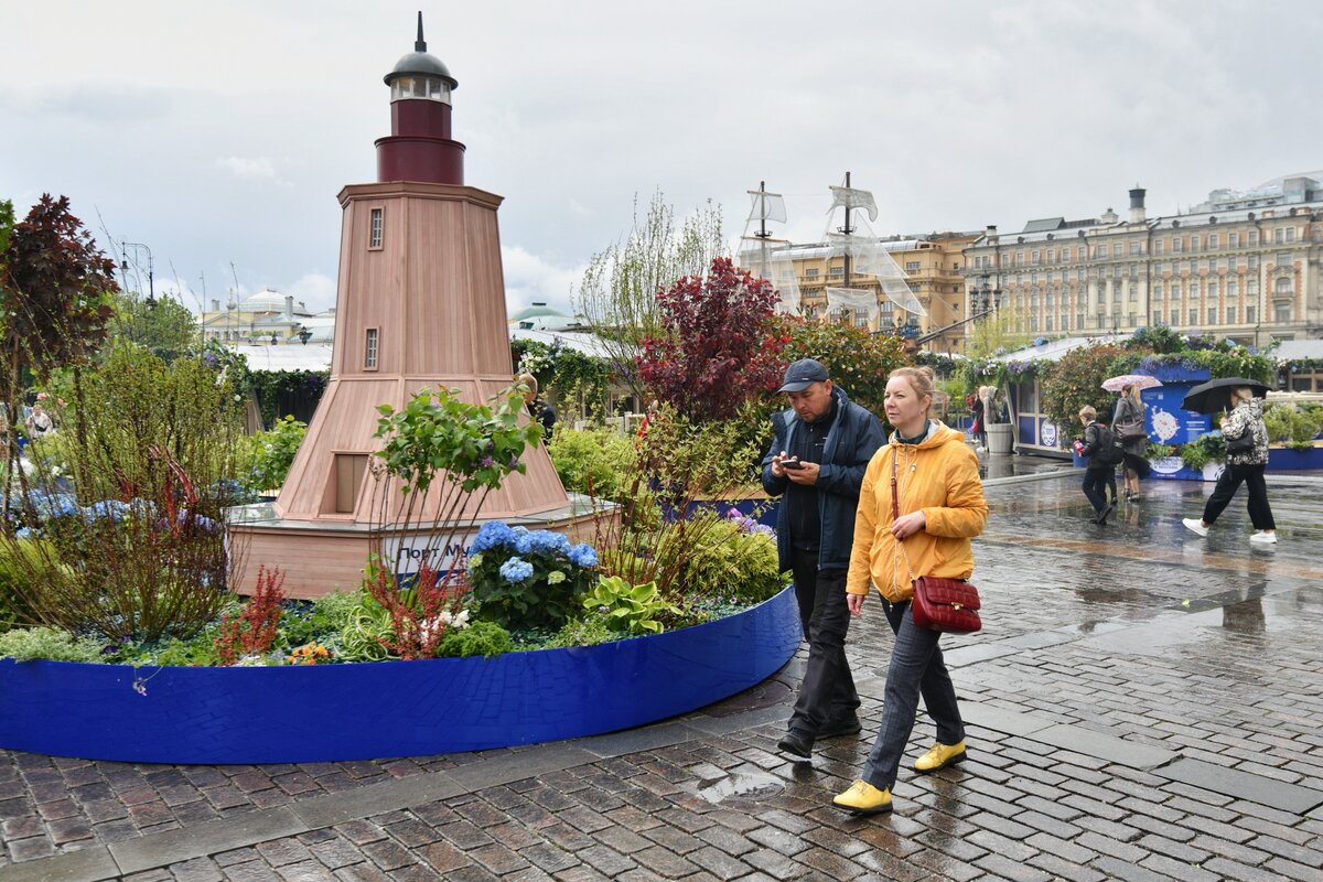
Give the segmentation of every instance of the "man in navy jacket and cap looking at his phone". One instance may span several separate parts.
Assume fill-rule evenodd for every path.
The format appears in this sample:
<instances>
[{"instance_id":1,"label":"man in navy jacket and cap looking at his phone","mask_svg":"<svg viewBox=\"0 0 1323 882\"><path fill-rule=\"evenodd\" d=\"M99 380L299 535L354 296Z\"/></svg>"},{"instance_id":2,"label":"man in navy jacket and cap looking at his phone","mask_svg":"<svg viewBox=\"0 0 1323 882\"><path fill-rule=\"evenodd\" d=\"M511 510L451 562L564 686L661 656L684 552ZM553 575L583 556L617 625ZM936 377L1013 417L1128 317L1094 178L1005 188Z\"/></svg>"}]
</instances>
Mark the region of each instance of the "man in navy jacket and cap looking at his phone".
<instances>
[{"instance_id":1,"label":"man in navy jacket and cap looking at his phone","mask_svg":"<svg viewBox=\"0 0 1323 882\"><path fill-rule=\"evenodd\" d=\"M790 409L771 418L777 436L762 458L762 485L769 496L782 496L777 553L795 581L808 666L777 747L807 759L815 739L860 730L859 693L845 660L845 574L864 469L885 436L877 418L851 403L819 361L790 365L781 393Z\"/></svg>"}]
</instances>

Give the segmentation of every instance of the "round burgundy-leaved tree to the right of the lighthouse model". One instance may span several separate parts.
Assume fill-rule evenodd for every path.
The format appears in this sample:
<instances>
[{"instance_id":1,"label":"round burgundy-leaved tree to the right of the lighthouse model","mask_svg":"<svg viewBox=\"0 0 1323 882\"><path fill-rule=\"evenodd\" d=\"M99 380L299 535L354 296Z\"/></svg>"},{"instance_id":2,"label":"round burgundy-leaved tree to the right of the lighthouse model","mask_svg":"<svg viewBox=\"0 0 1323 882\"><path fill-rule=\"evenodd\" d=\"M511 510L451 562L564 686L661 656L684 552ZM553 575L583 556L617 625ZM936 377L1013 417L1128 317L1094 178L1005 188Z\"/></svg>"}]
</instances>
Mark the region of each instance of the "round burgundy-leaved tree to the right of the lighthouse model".
<instances>
[{"instance_id":1,"label":"round burgundy-leaved tree to the right of the lighthouse model","mask_svg":"<svg viewBox=\"0 0 1323 882\"><path fill-rule=\"evenodd\" d=\"M665 336L638 356L647 389L695 421L728 419L777 387L790 337L774 321L771 282L714 258L706 276L687 275L656 295Z\"/></svg>"}]
</instances>

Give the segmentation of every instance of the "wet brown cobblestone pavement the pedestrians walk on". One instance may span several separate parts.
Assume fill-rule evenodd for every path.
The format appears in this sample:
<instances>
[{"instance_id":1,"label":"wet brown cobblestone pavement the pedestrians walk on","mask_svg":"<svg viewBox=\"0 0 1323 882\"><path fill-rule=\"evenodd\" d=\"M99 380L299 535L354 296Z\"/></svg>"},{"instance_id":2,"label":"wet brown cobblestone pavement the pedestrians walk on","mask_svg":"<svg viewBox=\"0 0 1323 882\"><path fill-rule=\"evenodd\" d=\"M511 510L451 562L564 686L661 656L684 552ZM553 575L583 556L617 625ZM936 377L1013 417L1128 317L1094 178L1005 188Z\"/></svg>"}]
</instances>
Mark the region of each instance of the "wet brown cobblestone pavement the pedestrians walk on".
<instances>
[{"instance_id":1,"label":"wet brown cobblestone pavement the pedestrians walk on","mask_svg":"<svg viewBox=\"0 0 1323 882\"><path fill-rule=\"evenodd\" d=\"M995 471L995 469L994 469ZM1027 469L1003 469L1003 473ZM970 758L902 766L896 812L849 784L881 714L875 602L848 652L863 741L775 752L803 653L656 726L356 763L173 767L0 751L7 879L1323 879L1323 477L1244 497L1147 481L1094 526L1081 473L990 483L984 629L946 637ZM871 608L869 608L871 607ZM921 717L910 755L927 747Z\"/></svg>"}]
</instances>

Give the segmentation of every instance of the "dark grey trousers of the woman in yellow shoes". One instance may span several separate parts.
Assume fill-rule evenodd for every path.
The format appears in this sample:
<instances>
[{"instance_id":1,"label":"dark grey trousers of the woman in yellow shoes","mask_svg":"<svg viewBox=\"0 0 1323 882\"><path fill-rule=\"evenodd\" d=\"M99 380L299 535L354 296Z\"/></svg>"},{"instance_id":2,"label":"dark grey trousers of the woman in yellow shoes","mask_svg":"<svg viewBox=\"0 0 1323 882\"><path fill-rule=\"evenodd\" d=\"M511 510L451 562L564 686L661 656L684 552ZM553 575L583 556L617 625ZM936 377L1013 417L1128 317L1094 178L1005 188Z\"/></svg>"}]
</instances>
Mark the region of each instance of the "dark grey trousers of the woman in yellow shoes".
<instances>
[{"instance_id":1,"label":"dark grey trousers of the woman in yellow shoes","mask_svg":"<svg viewBox=\"0 0 1323 882\"><path fill-rule=\"evenodd\" d=\"M882 729L868 751L864 780L878 789L896 784L901 756L914 731L918 697L923 696L927 715L937 723L937 741L955 744L964 739L964 722L955 703L955 686L937 645L942 635L914 624L909 600L882 600L886 620L896 632L892 662L886 669L886 697L882 703Z\"/></svg>"}]
</instances>

